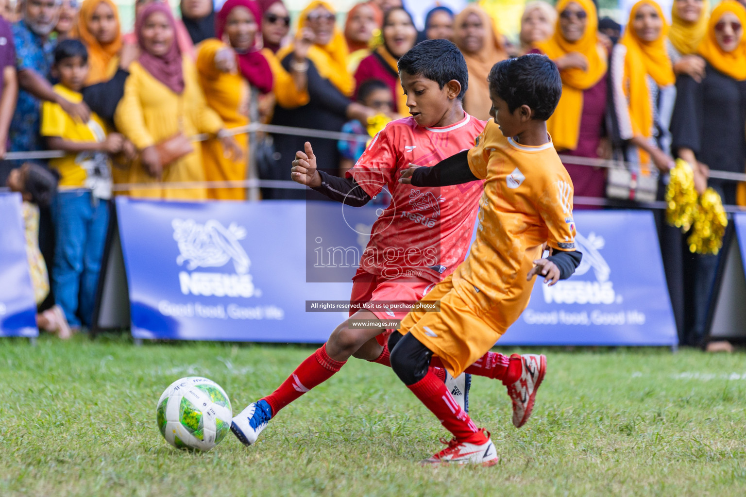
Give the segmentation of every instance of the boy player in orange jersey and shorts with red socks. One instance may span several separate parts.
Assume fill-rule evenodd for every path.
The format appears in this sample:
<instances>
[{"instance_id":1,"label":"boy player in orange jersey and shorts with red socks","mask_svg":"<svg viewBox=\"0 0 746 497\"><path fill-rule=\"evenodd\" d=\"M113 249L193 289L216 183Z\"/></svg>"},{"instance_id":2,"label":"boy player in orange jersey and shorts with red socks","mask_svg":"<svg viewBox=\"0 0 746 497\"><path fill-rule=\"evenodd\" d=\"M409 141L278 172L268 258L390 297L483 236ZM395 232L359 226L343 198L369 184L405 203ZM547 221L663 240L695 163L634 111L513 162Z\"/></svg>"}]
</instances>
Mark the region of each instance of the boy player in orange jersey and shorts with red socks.
<instances>
[{"instance_id":1,"label":"boy player in orange jersey and shorts with red socks","mask_svg":"<svg viewBox=\"0 0 746 497\"><path fill-rule=\"evenodd\" d=\"M454 435L423 463L497 463L489 432L474 425L428 367L442 364L454 376L466 370L524 311L533 276L554 285L574 273L582 256L575 250L572 182L546 127L562 93L557 66L538 54L504 60L492 68L489 89L494 121L474 148L432 168L413 166L399 180L413 186L484 180L471 253L424 297L439 300L440 311L414 309L389 338L397 376ZM541 259L545 244L552 254ZM524 355L518 364L504 379L513 382L515 425L530 416L546 358Z\"/></svg>"}]
</instances>

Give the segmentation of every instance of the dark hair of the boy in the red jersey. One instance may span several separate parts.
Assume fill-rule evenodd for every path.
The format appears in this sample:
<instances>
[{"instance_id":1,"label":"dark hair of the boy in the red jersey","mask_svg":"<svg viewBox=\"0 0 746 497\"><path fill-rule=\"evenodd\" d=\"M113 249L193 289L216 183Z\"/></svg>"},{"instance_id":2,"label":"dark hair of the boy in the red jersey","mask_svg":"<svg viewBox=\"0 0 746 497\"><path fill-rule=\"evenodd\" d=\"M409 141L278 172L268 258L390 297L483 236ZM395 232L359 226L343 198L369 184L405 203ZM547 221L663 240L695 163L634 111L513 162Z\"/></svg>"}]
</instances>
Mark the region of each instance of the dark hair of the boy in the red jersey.
<instances>
[{"instance_id":1,"label":"dark hair of the boy in the red jersey","mask_svg":"<svg viewBox=\"0 0 746 497\"><path fill-rule=\"evenodd\" d=\"M458 47L447 39L426 39L410 48L399 58L399 72L420 75L433 80L443 89L445 83L457 80L461 83L459 100L463 100L468 88L466 60Z\"/></svg>"}]
</instances>

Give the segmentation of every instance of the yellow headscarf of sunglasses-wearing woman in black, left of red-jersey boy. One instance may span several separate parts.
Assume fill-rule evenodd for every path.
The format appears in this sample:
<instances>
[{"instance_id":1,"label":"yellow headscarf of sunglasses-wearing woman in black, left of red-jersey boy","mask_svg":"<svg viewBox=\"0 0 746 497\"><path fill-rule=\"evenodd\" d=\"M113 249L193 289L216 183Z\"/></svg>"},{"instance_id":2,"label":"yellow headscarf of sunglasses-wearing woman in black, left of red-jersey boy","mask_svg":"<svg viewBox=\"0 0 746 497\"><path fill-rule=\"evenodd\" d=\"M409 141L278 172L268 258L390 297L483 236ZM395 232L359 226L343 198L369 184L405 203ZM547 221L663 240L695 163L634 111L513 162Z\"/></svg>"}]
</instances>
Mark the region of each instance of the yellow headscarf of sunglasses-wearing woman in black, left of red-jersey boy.
<instances>
[{"instance_id":1,"label":"yellow headscarf of sunglasses-wearing woman in black, left of red-jersey boy","mask_svg":"<svg viewBox=\"0 0 746 497\"><path fill-rule=\"evenodd\" d=\"M334 7L327 2L322 0L312 1L301 12L301 17L298 19L298 33L306 27L308 14L318 7L324 7L330 13L336 13ZM295 50L295 43L281 49L278 52L278 60L283 60L293 50ZM330 80L344 95L350 96L355 89L355 80L347 70L347 56L347 42L345 42L342 31L336 25L334 25L330 42L326 45L313 45L308 50L308 58L316 66L319 75L326 80Z\"/></svg>"}]
</instances>

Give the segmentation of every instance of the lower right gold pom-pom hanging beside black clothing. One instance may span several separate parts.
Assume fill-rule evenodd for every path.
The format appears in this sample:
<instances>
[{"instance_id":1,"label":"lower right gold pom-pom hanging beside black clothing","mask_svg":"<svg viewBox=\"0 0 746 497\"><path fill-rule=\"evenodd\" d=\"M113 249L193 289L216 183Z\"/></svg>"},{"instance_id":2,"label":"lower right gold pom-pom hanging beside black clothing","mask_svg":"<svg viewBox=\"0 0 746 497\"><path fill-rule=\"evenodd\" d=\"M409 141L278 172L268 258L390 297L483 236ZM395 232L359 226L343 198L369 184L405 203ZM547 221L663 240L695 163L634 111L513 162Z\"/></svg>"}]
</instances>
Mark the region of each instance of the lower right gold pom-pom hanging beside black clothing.
<instances>
[{"instance_id":1,"label":"lower right gold pom-pom hanging beside black clothing","mask_svg":"<svg viewBox=\"0 0 746 497\"><path fill-rule=\"evenodd\" d=\"M728 217L720 195L711 188L706 189L699 199L692 232L686 240L689 251L717 254L723 246L723 235L727 226Z\"/></svg>"}]
</instances>

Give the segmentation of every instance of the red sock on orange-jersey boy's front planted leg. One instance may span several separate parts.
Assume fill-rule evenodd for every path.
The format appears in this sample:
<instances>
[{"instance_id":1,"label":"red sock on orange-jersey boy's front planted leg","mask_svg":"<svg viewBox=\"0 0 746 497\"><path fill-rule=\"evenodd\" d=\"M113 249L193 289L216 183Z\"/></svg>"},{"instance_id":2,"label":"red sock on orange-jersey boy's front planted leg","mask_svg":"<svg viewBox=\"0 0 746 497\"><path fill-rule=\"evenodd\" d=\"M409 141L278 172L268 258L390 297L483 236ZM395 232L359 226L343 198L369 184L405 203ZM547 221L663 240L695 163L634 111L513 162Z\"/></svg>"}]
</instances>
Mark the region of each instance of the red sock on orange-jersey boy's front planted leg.
<instances>
[{"instance_id":1,"label":"red sock on orange-jersey boy's front planted leg","mask_svg":"<svg viewBox=\"0 0 746 497\"><path fill-rule=\"evenodd\" d=\"M456 403L445 384L437 379L432 371L428 371L419 382L407 387L436 415L445 429L454 434L457 440L468 440L472 443L486 441L482 431L477 430L477 425L474 425L468 414Z\"/></svg>"}]
</instances>

